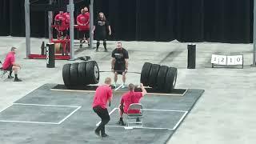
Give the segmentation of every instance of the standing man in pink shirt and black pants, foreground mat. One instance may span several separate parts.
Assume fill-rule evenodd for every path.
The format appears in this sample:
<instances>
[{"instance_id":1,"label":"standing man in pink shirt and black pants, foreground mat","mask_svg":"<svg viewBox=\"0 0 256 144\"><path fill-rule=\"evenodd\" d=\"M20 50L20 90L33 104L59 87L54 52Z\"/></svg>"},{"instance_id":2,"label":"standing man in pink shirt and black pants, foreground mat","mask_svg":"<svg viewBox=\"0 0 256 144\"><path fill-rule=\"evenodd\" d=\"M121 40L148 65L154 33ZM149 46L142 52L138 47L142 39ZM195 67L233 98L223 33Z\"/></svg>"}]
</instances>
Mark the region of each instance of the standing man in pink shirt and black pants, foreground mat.
<instances>
[{"instance_id":1,"label":"standing man in pink shirt and black pants, foreground mat","mask_svg":"<svg viewBox=\"0 0 256 144\"><path fill-rule=\"evenodd\" d=\"M105 84L98 86L94 95L93 110L100 118L102 118L102 122L94 132L101 137L108 136L105 133L105 125L110 122L110 114L106 109L106 103L108 101L111 102L112 99L112 90L110 84L111 78L106 78Z\"/></svg>"}]
</instances>

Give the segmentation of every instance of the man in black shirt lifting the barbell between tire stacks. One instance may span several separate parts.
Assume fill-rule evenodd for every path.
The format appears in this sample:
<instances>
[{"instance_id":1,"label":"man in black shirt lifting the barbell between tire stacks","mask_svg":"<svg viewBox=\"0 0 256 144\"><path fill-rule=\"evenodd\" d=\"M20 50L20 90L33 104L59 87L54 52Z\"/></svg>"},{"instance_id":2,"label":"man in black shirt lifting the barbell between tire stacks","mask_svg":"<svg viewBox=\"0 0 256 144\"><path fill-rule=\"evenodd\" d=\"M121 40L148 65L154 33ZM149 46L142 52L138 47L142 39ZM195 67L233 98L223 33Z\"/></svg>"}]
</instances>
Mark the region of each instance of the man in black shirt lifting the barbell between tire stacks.
<instances>
[{"instance_id":1,"label":"man in black shirt lifting the barbell between tire stacks","mask_svg":"<svg viewBox=\"0 0 256 144\"><path fill-rule=\"evenodd\" d=\"M122 88L125 88L128 59L128 51L122 48L121 42L118 42L117 48L112 51L111 70L114 72L114 86L118 81L118 74L122 74Z\"/></svg>"}]
</instances>

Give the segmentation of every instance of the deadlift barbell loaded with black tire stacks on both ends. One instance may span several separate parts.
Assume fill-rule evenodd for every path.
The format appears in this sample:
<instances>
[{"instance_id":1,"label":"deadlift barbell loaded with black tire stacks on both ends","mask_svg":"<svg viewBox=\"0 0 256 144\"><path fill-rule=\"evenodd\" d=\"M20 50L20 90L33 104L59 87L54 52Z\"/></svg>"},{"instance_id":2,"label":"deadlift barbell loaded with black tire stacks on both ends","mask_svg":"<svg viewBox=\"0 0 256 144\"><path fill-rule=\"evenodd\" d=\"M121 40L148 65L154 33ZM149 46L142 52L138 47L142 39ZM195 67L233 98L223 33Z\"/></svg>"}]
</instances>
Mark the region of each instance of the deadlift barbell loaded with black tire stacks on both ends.
<instances>
[{"instance_id":1,"label":"deadlift barbell loaded with black tire stacks on both ends","mask_svg":"<svg viewBox=\"0 0 256 144\"><path fill-rule=\"evenodd\" d=\"M62 78L67 88L98 84L99 73L111 72L110 70L98 69L95 61L68 63L62 68ZM121 71L120 71L121 72ZM140 81L144 86L150 86L162 92L171 92L177 79L177 68L160 66L145 62L142 72L127 71L131 74L141 74Z\"/></svg>"}]
</instances>

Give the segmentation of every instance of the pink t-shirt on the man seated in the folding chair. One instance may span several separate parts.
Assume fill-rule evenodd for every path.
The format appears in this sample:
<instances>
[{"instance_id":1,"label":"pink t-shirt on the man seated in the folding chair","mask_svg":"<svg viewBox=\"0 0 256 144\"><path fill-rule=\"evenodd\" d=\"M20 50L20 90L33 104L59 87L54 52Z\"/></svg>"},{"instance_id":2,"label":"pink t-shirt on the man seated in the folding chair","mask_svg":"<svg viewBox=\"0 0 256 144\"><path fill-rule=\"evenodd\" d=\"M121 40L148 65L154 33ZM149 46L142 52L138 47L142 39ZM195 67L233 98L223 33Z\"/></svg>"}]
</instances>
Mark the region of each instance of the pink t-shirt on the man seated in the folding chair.
<instances>
[{"instance_id":1,"label":"pink t-shirt on the man seated in the folding chair","mask_svg":"<svg viewBox=\"0 0 256 144\"><path fill-rule=\"evenodd\" d=\"M124 113L127 114L127 110L132 103L139 103L140 99L142 98L142 92L127 92L122 95L121 104L124 105ZM129 114L136 114L139 113L139 110L130 110Z\"/></svg>"}]
</instances>

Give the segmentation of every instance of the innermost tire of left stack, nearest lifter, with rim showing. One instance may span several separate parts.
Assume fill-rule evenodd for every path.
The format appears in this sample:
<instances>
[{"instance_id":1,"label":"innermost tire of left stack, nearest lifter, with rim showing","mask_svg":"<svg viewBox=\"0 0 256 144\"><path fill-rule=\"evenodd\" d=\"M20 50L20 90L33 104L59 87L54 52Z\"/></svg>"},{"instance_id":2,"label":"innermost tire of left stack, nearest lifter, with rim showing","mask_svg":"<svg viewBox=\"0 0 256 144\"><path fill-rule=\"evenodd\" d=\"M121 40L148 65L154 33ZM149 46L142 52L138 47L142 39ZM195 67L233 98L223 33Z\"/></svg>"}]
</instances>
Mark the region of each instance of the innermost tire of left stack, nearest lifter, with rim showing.
<instances>
[{"instance_id":1,"label":"innermost tire of left stack, nearest lifter, with rim showing","mask_svg":"<svg viewBox=\"0 0 256 144\"><path fill-rule=\"evenodd\" d=\"M90 84L97 84L99 81L98 64L95 61L86 63L86 81Z\"/></svg>"}]
</instances>

